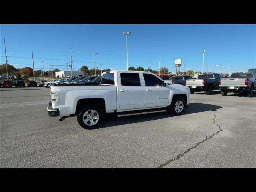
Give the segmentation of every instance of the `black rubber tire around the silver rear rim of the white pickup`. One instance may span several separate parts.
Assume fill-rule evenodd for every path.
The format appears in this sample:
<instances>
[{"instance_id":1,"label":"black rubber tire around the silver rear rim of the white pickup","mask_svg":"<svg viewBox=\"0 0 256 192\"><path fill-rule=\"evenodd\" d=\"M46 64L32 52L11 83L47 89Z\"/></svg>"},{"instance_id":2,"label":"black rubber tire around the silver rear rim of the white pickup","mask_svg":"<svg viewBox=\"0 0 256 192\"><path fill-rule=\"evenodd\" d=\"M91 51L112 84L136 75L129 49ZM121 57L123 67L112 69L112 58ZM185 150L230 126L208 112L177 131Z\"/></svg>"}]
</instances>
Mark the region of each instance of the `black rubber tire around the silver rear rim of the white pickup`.
<instances>
[{"instance_id":1,"label":"black rubber tire around the silver rear rim of the white pickup","mask_svg":"<svg viewBox=\"0 0 256 192\"><path fill-rule=\"evenodd\" d=\"M92 125L92 126L86 125L83 121L83 115L88 110L95 110L99 114L98 122L96 124ZM95 128L97 128L98 126L100 126L100 124L102 122L102 119L103 119L102 110L100 110L100 108L98 108L97 106L93 106L93 105L84 106L82 109L80 109L80 111L78 112L78 115L77 115L77 121L80 124L80 126L82 126L82 128L84 128L84 129L95 129Z\"/></svg>"}]
</instances>

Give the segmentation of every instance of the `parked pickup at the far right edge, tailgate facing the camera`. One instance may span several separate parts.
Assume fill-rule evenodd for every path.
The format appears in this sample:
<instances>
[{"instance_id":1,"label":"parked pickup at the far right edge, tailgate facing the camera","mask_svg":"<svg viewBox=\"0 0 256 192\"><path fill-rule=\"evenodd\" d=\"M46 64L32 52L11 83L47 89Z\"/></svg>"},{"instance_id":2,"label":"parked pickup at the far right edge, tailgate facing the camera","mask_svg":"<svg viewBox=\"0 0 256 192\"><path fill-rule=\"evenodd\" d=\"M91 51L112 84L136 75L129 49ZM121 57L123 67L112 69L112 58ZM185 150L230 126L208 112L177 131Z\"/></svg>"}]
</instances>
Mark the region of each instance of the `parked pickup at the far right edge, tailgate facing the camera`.
<instances>
[{"instance_id":1,"label":"parked pickup at the far right edge, tailgate facing the camera","mask_svg":"<svg viewBox=\"0 0 256 192\"><path fill-rule=\"evenodd\" d=\"M232 73L230 78L221 79L220 92L222 96L228 93L246 93L246 96L252 97L253 90L256 88L256 72L238 72Z\"/></svg>"}]
</instances>

